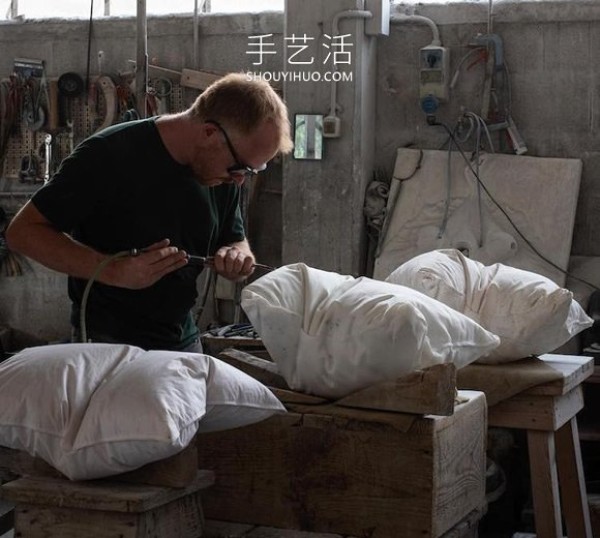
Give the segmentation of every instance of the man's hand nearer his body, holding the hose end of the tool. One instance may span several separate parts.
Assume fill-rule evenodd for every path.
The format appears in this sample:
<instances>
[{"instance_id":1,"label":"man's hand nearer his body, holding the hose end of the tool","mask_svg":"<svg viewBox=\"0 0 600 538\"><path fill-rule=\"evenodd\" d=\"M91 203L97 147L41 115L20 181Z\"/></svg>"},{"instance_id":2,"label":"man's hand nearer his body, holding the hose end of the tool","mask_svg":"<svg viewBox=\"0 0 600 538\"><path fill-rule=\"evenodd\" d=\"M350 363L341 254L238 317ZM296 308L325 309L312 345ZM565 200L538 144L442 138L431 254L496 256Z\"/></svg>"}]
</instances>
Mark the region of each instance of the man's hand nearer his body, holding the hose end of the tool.
<instances>
[{"instance_id":1,"label":"man's hand nearer his body, holding the hose end of the tool","mask_svg":"<svg viewBox=\"0 0 600 538\"><path fill-rule=\"evenodd\" d=\"M169 240L163 239L143 248L137 256L115 259L102 271L99 280L111 286L137 290L152 286L186 264L186 252L170 247Z\"/></svg>"}]
</instances>

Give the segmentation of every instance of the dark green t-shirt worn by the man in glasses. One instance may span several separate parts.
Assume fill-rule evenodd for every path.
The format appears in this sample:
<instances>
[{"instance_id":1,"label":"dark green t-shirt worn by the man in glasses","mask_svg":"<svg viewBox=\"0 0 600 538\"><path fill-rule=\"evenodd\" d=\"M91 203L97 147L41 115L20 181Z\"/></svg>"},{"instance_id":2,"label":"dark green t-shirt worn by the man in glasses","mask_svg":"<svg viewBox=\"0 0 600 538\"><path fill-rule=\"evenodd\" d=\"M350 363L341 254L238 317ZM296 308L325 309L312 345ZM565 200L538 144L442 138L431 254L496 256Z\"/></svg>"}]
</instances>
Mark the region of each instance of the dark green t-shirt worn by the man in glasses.
<instances>
[{"instance_id":1,"label":"dark green t-shirt worn by the man in glasses","mask_svg":"<svg viewBox=\"0 0 600 538\"><path fill-rule=\"evenodd\" d=\"M83 141L32 202L58 229L106 254L168 238L189 254L209 256L245 237L238 188L200 185L167 152L154 118ZM88 333L145 349L182 349L197 336L190 309L199 272L188 265L142 290L94 283ZM75 327L85 285L69 278Z\"/></svg>"}]
</instances>

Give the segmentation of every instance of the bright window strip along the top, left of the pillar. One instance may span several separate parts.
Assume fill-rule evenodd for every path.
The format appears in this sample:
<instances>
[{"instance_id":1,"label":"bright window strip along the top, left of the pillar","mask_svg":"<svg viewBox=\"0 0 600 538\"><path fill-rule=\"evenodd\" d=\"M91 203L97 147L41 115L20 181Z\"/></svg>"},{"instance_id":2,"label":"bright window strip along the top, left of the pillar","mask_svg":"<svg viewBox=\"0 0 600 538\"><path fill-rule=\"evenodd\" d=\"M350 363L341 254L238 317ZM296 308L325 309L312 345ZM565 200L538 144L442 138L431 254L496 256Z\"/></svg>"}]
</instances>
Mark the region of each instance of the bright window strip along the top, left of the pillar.
<instances>
[{"instance_id":1,"label":"bright window strip along the top, left of the pillar","mask_svg":"<svg viewBox=\"0 0 600 538\"><path fill-rule=\"evenodd\" d=\"M198 0L198 9L208 13L239 13L259 11L283 11L284 0ZM148 15L193 13L194 0L147 0ZM91 0L0 0L0 18L10 19L16 15L27 19L50 17L84 18L90 16ZM94 0L94 17L135 16L136 0Z\"/></svg>"}]
</instances>

